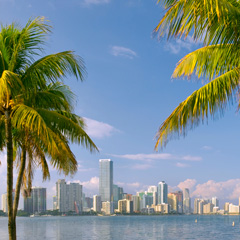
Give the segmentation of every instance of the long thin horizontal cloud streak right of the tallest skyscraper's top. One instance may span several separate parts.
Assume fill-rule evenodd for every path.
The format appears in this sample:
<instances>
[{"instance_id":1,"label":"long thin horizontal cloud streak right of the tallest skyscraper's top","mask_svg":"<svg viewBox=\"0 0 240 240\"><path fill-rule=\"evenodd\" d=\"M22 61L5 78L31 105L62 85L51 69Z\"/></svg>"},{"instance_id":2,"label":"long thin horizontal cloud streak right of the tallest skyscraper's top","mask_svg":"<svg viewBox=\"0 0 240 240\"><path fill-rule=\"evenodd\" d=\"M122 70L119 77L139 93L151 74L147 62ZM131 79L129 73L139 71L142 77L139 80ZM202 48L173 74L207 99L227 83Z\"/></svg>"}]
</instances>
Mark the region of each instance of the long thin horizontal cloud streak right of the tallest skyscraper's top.
<instances>
[{"instance_id":1,"label":"long thin horizontal cloud streak right of the tallest skyscraper's top","mask_svg":"<svg viewBox=\"0 0 240 240\"><path fill-rule=\"evenodd\" d=\"M169 153L153 153L153 154L125 154L125 155L117 155L117 154L111 154L113 157L118 157L118 158L125 158L129 160L138 160L138 161L147 161L151 162L153 160L181 160L181 161L201 161L202 158L199 156L191 156L191 155L186 155L186 156L177 156Z\"/></svg>"}]
</instances>

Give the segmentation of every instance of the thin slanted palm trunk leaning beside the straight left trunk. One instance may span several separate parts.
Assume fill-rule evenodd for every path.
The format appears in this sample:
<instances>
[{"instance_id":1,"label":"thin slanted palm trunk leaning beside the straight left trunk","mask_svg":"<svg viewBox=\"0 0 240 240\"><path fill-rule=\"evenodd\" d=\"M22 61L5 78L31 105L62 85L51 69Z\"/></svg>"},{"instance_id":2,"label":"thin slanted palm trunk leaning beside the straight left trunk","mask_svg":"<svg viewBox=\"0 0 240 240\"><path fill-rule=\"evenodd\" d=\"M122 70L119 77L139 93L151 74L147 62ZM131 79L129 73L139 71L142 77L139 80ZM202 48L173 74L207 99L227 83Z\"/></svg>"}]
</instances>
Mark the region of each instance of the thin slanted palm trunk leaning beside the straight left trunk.
<instances>
[{"instance_id":1,"label":"thin slanted palm trunk leaning beside the straight left trunk","mask_svg":"<svg viewBox=\"0 0 240 240\"><path fill-rule=\"evenodd\" d=\"M17 216L17 209L18 209L18 204L19 204L20 190L21 190L25 165L26 165L26 147L25 147L25 144L23 143L22 152L21 152L21 162L20 162L20 167L19 167L19 172L18 172L18 178L17 178L17 183L16 183L16 189L15 189L15 198L14 198L14 203L13 203L13 218L14 218L14 220L16 219L16 216Z\"/></svg>"}]
</instances>

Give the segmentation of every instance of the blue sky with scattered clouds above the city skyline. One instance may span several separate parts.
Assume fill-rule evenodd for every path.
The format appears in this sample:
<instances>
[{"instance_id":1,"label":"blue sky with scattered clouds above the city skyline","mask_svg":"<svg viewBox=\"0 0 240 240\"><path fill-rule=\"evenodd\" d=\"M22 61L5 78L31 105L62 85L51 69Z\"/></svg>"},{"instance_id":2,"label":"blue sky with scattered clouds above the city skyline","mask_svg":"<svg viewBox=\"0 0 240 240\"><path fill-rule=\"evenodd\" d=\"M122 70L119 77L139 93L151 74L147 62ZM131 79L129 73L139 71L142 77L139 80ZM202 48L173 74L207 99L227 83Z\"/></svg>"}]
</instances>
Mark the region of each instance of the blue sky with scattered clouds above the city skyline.
<instances>
[{"instance_id":1,"label":"blue sky with scattered clouds above the city skyline","mask_svg":"<svg viewBox=\"0 0 240 240\"><path fill-rule=\"evenodd\" d=\"M72 149L79 171L67 181L79 181L88 196L98 193L100 158L114 162L114 182L126 192L147 190L165 180L170 190L189 187L193 197L217 196L236 203L240 196L239 114L229 105L223 118L199 126L188 135L154 151L160 124L177 105L202 86L201 80L171 79L177 62L201 46L190 37L167 42L152 36L164 10L156 0L0 0L3 24L45 16L53 26L46 54L74 50L83 57L88 75L81 83L65 80L77 95L75 111L86 119L88 133L100 149L90 154ZM5 181L5 154L1 155ZM55 182L64 178L52 169L42 183L48 188L48 208ZM5 192L2 184L0 194Z\"/></svg>"}]
</instances>

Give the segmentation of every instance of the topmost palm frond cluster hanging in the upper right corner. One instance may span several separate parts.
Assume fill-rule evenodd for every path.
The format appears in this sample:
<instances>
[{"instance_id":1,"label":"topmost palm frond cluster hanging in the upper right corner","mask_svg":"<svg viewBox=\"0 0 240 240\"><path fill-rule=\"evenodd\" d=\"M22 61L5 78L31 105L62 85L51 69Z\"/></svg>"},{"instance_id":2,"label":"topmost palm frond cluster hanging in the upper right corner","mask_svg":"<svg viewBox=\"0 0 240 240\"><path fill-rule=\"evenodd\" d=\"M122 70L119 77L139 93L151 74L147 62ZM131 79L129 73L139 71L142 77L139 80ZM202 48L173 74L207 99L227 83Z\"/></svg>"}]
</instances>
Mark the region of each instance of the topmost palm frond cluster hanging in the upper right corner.
<instances>
[{"instance_id":1,"label":"topmost palm frond cluster hanging in the upper right corner","mask_svg":"<svg viewBox=\"0 0 240 240\"><path fill-rule=\"evenodd\" d=\"M237 0L175 0L162 2L167 9L155 28L159 37L188 36L206 45L239 41L240 3Z\"/></svg>"}]
</instances>

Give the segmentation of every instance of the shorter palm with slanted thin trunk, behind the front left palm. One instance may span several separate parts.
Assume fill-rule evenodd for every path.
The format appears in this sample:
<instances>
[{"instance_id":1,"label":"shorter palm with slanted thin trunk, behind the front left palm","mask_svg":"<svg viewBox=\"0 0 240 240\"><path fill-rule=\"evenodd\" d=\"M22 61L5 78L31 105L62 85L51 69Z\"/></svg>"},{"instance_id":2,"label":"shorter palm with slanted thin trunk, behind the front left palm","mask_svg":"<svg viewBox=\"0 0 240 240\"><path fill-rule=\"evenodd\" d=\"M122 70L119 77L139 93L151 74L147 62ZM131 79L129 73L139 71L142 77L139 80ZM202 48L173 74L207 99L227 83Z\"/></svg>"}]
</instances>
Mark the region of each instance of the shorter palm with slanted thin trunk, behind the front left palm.
<instances>
[{"instance_id":1,"label":"shorter palm with slanted thin trunk, behind the front left palm","mask_svg":"<svg viewBox=\"0 0 240 240\"><path fill-rule=\"evenodd\" d=\"M25 99L24 95L22 100L25 100L25 105L21 106L23 113L13 112L12 125L15 130L13 139L15 145L20 148L19 161L16 161L19 174L13 204L14 216L17 214L21 184L24 183L25 190L29 193L33 170L36 167L41 167L43 180L50 178L47 159L65 175L74 174L77 171L77 161L68 146L69 141L83 145L90 152L97 150L84 131L83 120L70 112L71 105L67 99L71 99L72 95L69 88L60 82L50 84L45 89L31 93L30 98ZM21 118L25 121L21 121ZM31 122L32 118L42 118L43 121L37 124L37 128L29 128L27 122ZM46 141L44 134L37 133L40 125L45 125L48 134L53 138L51 145ZM57 144L57 147L52 147L53 144Z\"/></svg>"}]
</instances>

